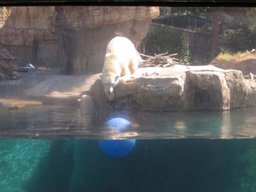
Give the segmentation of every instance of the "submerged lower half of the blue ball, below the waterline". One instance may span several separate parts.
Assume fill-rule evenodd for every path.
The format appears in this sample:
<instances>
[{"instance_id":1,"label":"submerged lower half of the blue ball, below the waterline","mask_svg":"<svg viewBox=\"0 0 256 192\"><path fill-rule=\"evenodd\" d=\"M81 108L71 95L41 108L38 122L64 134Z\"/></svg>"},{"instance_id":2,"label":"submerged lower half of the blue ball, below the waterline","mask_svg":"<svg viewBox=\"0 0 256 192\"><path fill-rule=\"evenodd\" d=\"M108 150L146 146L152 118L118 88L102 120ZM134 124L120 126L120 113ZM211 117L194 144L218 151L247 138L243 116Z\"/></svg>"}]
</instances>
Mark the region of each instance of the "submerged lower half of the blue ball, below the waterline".
<instances>
[{"instance_id":1,"label":"submerged lower half of the blue ball, below the waterline","mask_svg":"<svg viewBox=\"0 0 256 192\"><path fill-rule=\"evenodd\" d=\"M133 150L135 141L135 139L100 140L99 146L106 155L111 157L123 157Z\"/></svg>"}]
</instances>

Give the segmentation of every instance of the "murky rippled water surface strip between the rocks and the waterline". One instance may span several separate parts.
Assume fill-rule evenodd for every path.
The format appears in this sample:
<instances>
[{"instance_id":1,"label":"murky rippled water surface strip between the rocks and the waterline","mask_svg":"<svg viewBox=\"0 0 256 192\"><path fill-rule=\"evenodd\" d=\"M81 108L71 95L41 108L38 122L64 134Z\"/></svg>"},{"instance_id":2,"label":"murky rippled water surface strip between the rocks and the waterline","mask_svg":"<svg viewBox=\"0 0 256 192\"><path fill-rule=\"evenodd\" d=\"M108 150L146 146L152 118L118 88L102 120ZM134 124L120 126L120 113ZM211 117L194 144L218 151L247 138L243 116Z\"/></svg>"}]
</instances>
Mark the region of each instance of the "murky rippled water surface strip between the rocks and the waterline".
<instances>
[{"instance_id":1,"label":"murky rippled water surface strip between the rocks and the waterline","mask_svg":"<svg viewBox=\"0 0 256 192\"><path fill-rule=\"evenodd\" d=\"M28 105L18 111L0 107L0 138L171 139L256 136L255 107L211 112L103 111L96 114L68 106ZM113 131L104 123L114 117L126 118L134 126L125 132Z\"/></svg>"}]
</instances>

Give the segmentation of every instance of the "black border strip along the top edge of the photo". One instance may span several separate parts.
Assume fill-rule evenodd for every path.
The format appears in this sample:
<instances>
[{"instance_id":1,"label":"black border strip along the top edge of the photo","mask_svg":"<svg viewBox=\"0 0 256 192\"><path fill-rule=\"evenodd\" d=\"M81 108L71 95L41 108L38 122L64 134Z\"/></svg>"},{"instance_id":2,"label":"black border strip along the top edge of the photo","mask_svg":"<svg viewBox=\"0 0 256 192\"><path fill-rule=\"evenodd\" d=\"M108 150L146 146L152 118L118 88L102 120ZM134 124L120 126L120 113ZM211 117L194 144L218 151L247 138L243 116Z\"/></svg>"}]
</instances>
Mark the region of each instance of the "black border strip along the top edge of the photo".
<instances>
[{"instance_id":1,"label":"black border strip along the top edge of the photo","mask_svg":"<svg viewBox=\"0 0 256 192\"><path fill-rule=\"evenodd\" d=\"M0 6L256 7L256 0L0 0Z\"/></svg>"}]
</instances>

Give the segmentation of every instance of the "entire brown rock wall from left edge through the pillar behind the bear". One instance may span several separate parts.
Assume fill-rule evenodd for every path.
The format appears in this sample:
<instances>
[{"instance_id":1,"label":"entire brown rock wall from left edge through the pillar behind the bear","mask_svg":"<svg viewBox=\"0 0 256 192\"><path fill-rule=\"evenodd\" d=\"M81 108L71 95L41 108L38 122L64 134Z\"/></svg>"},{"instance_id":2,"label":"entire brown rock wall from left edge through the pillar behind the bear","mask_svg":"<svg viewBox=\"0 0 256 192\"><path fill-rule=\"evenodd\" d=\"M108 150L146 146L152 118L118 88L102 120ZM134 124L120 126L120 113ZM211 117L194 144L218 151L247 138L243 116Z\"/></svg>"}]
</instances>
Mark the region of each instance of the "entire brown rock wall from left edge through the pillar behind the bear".
<instances>
[{"instance_id":1,"label":"entire brown rock wall from left edge through the pillar behind the bear","mask_svg":"<svg viewBox=\"0 0 256 192\"><path fill-rule=\"evenodd\" d=\"M128 37L138 46L158 15L158 7L2 7L0 49L18 55L19 66L98 73L113 37Z\"/></svg>"}]
</instances>

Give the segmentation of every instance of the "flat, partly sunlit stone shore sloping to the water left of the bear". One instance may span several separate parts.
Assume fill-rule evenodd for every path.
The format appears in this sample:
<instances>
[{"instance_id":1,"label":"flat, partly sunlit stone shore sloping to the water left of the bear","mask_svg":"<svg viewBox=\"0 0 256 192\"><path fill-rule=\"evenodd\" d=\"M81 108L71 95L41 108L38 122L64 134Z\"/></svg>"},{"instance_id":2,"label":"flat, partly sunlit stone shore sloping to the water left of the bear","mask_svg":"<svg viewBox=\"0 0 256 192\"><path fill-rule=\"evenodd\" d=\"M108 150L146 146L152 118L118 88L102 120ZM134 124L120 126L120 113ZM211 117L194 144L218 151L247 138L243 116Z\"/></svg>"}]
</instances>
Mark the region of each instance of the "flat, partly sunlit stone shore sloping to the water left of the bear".
<instances>
[{"instance_id":1,"label":"flat, partly sunlit stone shore sloping to the water left of the bear","mask_svg":"<svg viewBox=\"0 0 256 192\"><path fill-rule=\"evenodd\" d=\"M99 75L67 76L57 70L29 69L17 80L0 82L0 97L38 100L44 104L76 105Z\"/></svg>"}]
</instances>

